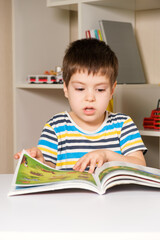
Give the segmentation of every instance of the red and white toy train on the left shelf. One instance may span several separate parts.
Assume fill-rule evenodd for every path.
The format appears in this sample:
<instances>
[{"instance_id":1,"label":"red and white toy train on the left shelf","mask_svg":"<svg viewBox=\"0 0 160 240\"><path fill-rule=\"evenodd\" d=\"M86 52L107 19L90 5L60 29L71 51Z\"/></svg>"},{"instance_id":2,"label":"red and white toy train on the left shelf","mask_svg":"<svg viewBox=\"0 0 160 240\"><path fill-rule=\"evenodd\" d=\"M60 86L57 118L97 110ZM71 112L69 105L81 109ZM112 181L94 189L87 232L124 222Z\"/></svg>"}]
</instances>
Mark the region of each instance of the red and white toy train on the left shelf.
<instances>
[{"instance_id":1,"label":"red and white toy train on the left shelf","mask_svg":"<svg viewBox=\"0 0 160 240\"><path fill-rule=\"evenodd\" d=\"M61 67L56 67L55 71L45 71L43 75L28 75L27 80L28 83L62 84L62 69Z\"/></svg>"}]
</instances>

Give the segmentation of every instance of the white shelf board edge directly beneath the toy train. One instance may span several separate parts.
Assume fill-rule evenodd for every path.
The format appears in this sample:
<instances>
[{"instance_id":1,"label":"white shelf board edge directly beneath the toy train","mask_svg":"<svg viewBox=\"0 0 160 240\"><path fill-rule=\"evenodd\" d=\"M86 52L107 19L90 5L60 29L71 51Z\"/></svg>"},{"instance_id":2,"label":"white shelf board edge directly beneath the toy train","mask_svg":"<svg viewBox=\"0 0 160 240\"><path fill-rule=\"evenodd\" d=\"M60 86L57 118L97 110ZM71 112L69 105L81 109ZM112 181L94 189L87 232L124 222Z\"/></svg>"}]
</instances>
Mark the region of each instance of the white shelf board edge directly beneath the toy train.
<instances>
[{"instance_id":1,"label":"white shelf board edge directly beneath the toy train","mask_svg":"<svg viewBox=\"0 0 160 240\"><path fill-rule=\"evenodd\" d=\"M17 84L19 89L63 89L63 84Z\"/></svg>"}]
</instances>

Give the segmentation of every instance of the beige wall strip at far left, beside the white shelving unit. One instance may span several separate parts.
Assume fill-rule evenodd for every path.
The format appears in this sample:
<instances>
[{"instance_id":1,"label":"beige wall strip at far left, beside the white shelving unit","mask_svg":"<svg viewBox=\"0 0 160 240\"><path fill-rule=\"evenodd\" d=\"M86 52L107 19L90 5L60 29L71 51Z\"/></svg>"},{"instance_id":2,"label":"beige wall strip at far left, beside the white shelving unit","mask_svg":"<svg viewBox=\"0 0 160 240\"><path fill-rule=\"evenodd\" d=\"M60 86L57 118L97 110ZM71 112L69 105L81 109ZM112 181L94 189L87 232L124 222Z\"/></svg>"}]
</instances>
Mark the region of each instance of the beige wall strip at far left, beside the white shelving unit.
<instances>
[{"instance_id":1,"label":"beige wall strip at far left, beside the white shelving unit","mask_svg":"<svg viewBox=\"0 0 160 240\"><path fill-rule=\"evenodd\" d=\"M0 173L13 171L11 1L0 0Z\"/></svg>"}]
</instances>

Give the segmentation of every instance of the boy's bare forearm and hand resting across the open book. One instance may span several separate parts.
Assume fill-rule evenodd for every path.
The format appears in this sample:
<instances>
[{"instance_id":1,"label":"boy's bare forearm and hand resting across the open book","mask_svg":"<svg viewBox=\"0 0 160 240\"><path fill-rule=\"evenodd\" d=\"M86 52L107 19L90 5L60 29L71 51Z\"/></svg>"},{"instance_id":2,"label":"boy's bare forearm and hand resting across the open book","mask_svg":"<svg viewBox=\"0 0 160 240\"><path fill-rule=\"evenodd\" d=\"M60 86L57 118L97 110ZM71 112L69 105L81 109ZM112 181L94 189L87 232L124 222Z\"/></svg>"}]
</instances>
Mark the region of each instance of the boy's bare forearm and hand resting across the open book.
<instances>
[{"instance_id":1,"label":"boy's bare forearm and hand resting across the open book","mask_svg":"<svg viewBox=\"0 0 160 240\"><path fill-rule=\"evenodd\" d=\"M130 162L146 166L142 151L135 151L124 156L111 150L100 149L85 154L78 160L73 169L83 172L87 166L90 166L89 173L93 173L96 165L98 165L98 167L101 167L105 162L110 161Z\"/></svg>"}]
</instances>

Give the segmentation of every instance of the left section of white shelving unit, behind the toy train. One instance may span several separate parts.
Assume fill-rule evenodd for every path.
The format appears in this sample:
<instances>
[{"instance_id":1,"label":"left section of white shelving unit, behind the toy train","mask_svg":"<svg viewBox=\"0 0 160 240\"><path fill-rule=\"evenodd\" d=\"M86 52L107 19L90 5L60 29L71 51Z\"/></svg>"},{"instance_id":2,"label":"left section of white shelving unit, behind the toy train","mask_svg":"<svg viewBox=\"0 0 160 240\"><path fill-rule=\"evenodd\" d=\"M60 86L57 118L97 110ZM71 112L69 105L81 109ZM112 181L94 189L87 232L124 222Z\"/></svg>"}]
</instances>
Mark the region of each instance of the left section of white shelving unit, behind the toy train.
<instances>
[{"instance_id":1,"label":"left section of white shelving unit, behind the toy train","mask_svg":"<svg viewBox=\"0 0 160 240\"><path fill-rule=\"evenodd\" d=\"M69 12L46 0L13 0L14 152L37 145L43 125L68 109L62 85L32 85L30 74L61 66L70 42ZM63 36L62 36L63 35Z\"/></svg>"}]
</instances>

